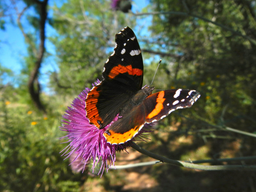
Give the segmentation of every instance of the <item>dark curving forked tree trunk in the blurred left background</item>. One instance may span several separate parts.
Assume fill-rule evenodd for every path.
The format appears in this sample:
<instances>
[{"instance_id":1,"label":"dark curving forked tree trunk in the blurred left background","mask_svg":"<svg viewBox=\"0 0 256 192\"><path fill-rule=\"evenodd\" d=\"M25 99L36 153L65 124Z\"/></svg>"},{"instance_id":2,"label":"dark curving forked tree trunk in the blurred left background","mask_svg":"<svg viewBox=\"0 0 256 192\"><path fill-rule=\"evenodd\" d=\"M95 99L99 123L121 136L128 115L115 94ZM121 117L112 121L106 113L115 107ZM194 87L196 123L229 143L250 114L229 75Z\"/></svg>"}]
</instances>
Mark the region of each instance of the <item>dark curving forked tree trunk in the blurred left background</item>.
<instances>
[{"instance_id":1,"label":"dark curving forked tree trunk in the blurred left background","mask_svg":"<svg viewBox=\"0 0 256 192\"><path fill-rule=\"evenodd\" d=\"M24 1L26 7L23 8L21 12L18 10L18 6L15 5L15 9L18 14L17 24L25 38L26 43L28 44L28 56L24 58L26 60L29 78L28 78L28 91L31 99L33 100L35 106L46 113L45 107L40 100L41 87L38 81L38 74L41 64L43 62L44 56L44 43L45 43L45 24L47 20L47 2L44 1ZM13 2L14 3L14 2ZM15 4L15 3L14 3ZM24 12L28 8L34 8L35 16L28 16L28 21L31 26L34 27L34 34L31 31L25 31L23 24L21 23L21 17L24 15ZM39 33L39 37L37 36Z\"/></svg>"}]
</instances>

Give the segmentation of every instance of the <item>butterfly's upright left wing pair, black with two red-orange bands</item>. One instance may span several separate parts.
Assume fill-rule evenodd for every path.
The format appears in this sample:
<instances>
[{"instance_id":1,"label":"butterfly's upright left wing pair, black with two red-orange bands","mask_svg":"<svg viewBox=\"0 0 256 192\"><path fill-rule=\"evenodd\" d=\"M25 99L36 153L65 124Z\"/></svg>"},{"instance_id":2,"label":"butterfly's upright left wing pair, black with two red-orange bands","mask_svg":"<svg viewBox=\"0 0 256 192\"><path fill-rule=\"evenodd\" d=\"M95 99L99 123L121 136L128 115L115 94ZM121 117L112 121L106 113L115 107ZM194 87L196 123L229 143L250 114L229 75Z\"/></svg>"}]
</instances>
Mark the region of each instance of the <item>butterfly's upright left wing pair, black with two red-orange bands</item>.
<instances>
[{"instance_id":1,"label":"butterfly's upright left wing pair, black with two red-orange bands","mask_svg":"<svg viewBox=\"0 0 256 192\"><path fill-rule=\"evenodd\" d=\"M116 47L104 65L103 80L86 97L86 116L91 124L104 128L125 103L142 87L143 60L132 29L116 34Z\"/></svg>"}]
</instances>

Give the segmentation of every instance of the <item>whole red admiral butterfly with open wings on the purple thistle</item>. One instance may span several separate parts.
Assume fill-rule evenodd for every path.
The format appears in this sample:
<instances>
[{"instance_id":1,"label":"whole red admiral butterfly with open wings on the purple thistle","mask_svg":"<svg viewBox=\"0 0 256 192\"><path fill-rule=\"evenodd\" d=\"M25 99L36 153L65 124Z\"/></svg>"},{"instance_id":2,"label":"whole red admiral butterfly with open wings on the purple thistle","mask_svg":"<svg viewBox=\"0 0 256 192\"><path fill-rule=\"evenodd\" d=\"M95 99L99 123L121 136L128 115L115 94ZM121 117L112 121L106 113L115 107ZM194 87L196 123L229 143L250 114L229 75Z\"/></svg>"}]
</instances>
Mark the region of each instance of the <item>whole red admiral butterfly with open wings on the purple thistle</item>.
<instances>
[{"instance_id":1,"label":"whole red admiral butterfly with open wings on the purple thistle","mask_svg":"<svg viewBox=\"0 0 256 192\"><path fill-rule=\"evenodd\" d=\"M116 34L116 47L104 65L103 80L88 92L86 116L99 129L112 123L104 137L108 143L131 140L144 124L158 121L179 108L191 107L199 92L171 89L152 94L154 87L142 88L143 60L132 29Z\"/></svg>"}]
</instances>

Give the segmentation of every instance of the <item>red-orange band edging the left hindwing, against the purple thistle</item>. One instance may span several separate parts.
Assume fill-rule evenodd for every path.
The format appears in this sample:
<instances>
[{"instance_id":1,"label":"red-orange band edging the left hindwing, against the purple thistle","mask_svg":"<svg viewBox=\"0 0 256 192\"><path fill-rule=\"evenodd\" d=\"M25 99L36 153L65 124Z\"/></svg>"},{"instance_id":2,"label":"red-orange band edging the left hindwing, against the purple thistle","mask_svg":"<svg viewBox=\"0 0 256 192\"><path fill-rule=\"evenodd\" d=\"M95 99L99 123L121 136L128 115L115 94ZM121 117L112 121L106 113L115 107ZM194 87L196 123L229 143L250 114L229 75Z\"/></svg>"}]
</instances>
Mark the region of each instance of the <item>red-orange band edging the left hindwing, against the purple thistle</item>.
<instances>
[{"instance_id":1,"label":"red-orange band edging the left hindwing, against the purple thistle","mask_svg":"<svg viewBox=\"0 0 256 192\"><path fill-rule=\"evenodd\" d=\"M102 121L96 107L99 96L100 94L99 91L97 91L97 87L94 87L90 92L88 92L85 100L86 117L89 119L91 124L94 124L98 128L100 128L98 121Z\"/></svg>"}]
</instances>

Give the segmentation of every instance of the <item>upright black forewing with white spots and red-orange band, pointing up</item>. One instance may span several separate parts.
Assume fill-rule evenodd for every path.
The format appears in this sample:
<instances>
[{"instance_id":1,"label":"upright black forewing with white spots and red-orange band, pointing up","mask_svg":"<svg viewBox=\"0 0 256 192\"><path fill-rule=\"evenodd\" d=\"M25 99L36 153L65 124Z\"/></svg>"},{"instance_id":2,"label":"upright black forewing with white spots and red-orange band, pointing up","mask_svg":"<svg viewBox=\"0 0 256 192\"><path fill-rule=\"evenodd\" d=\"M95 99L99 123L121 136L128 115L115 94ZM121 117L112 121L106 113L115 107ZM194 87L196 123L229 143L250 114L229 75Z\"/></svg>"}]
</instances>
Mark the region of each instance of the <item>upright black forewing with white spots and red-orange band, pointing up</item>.
<instances>
[{"instance_id":1,"label":"upright black forewing with white spots and red-orange band, pointing up","mask_svg":"<svg viewBox=\"0 0 256 192\"><path fill-rule=\"evenodd\" d=\"M143 83L143 60L138 40L129 27L116 34L116 47L104 65L102 76L139 90Z\"/></svg>"}]
</instances>

